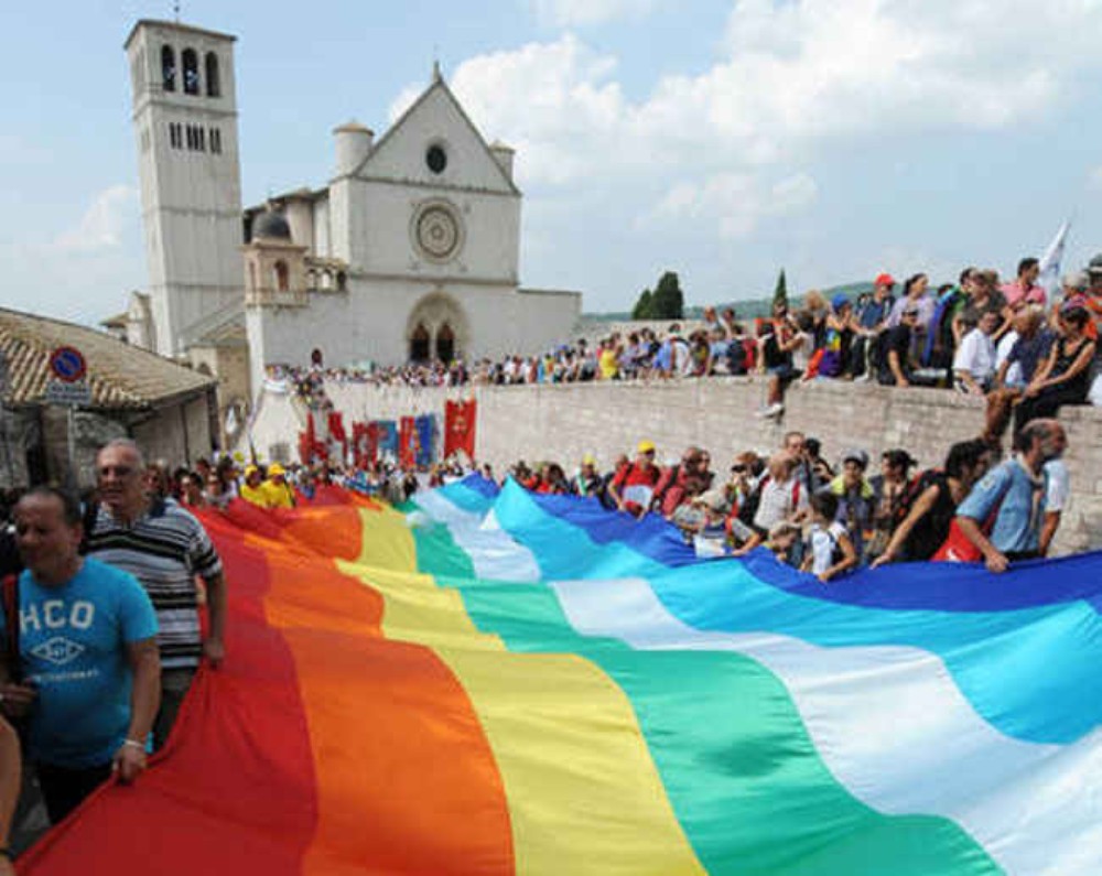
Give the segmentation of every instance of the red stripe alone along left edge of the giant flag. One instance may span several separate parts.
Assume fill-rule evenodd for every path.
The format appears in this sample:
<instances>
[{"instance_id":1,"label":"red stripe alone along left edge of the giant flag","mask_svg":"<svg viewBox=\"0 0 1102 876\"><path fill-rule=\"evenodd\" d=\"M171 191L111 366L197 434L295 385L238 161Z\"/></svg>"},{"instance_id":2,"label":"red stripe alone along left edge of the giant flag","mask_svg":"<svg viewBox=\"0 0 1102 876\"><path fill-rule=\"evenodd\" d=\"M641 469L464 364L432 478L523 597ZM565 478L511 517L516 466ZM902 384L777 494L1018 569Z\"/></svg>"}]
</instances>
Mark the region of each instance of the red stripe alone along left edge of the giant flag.
<instances>
[{"instance_id":1,"label":"red stripe alone along left edge of the giant flag","mask_svg":"<svg viewBox=\"0 0 1102 876\"><path fill-rule=\"evenodd\" d=\"M266 618L263 554L216 524L229 570L227 664L197 678L154 766L109 786L20 862L34 876L298 876L316 779L291 649Z\"/></svg>"}]
</instances>

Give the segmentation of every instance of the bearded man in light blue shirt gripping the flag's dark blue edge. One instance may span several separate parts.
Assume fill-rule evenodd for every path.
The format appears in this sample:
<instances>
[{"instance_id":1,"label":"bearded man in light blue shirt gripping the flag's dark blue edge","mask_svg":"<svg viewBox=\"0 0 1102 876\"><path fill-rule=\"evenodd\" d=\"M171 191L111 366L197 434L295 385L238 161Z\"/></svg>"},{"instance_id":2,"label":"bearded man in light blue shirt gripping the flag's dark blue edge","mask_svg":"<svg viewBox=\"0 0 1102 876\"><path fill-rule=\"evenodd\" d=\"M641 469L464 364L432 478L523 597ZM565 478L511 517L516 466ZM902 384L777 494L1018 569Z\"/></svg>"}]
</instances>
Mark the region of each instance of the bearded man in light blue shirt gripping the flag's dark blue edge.
<instances>
[{"instance_id":1,"label":"bearded man in light blue shirt gripping the flag's dark blue edge","mask_svg":"<svg viewBox=\"0 0 1102 876\"><path fill-rule=\"evenodd\" d=\"M1059 422L1031 420L1015 435L1015 456L988 472L957 509L961 532L992 572L1005 572L1015 560L1041 555L1045 463L1059 458L1067 446L1068 437Z\"/></svg>"}]
</instances>

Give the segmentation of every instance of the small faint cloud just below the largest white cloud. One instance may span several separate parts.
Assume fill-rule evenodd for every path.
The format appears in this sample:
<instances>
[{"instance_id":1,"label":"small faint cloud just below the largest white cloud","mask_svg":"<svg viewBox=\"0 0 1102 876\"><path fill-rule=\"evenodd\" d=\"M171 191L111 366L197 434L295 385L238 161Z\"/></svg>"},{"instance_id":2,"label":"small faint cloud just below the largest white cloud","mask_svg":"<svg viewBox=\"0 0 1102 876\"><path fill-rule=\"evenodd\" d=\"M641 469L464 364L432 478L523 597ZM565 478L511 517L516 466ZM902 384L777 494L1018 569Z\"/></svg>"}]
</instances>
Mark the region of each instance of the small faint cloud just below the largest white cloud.
<instances>
[{"instance_id":1,"label":"small faint cloud just below the largest white cloud","mask_svg":"<svg viewBox=\"0 0 1102 876\"><path fill-rule=\"evenodd\" d=\"M711 220L720 237L747 237L761 221L796 215L819 195L815 181L806 173L767 183L746 173L722 173L702 183L674 185L640 225L668 220Z\"/></svg>"}]
</instances>

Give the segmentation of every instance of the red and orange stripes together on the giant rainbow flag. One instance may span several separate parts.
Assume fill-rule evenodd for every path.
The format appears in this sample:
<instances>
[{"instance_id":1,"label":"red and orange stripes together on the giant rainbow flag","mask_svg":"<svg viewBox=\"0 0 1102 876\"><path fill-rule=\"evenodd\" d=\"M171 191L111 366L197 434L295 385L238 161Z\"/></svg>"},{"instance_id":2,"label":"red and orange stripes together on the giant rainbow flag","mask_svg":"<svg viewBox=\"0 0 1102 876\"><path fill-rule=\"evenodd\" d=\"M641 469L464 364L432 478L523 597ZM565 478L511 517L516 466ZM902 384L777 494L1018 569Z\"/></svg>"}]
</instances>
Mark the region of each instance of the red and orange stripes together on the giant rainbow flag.
<instances>
[{"instance_id":1,"label":"red and orange stripes together on the giant rainbow flag","mask_svg":"<svg viewBox=\"0 0 1102 876\"><path fill-rule=\"evenodd\" d=\"M305 550L350 550L352 518L234 517L279 538L204 515L229 582L225 667L201 673L158 763L89 799L20 872L512 873L466 692L429 648L382 638L376 591Z\"/></svg>"}]
</instances>

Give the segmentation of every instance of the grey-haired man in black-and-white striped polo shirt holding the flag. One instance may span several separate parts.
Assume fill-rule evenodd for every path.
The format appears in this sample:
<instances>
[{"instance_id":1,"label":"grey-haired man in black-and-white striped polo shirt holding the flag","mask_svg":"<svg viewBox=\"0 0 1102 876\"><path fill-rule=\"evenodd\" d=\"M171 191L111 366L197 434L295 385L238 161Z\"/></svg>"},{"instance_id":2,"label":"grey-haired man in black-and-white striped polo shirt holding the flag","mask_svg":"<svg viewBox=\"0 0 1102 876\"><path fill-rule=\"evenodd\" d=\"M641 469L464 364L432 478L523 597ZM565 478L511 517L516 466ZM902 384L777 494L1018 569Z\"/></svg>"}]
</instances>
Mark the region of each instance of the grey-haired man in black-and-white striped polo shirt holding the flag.
<instances>
[{"instance_id":1,"label":"grey-haired man in black-and-white striped polo shirt holding the flag","mask_svg":"<svg viewBox=\"0 0 1102 876\"><path fill-rule=\"evenodd\" d=\"M204 657L217 668L225 656L226 582L222 561L191 512L172 499L153 497L145 464L132 441L106 444L96 457L100 505L87 533L87 551L130 572L145 588L160 631L161 711L153 726L160 748L195 670ZM199 629L195 576L206 583L209 628Z\"/></svg>"}]
</instances>

